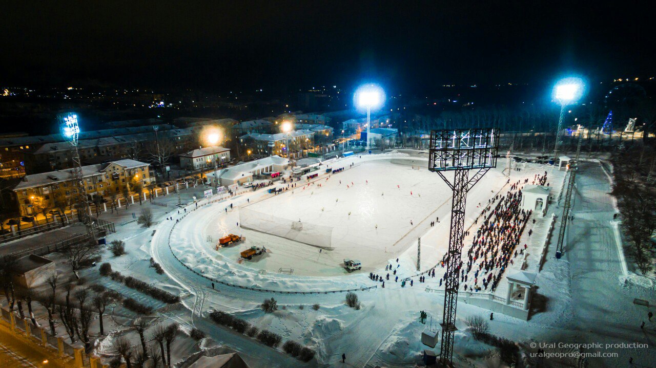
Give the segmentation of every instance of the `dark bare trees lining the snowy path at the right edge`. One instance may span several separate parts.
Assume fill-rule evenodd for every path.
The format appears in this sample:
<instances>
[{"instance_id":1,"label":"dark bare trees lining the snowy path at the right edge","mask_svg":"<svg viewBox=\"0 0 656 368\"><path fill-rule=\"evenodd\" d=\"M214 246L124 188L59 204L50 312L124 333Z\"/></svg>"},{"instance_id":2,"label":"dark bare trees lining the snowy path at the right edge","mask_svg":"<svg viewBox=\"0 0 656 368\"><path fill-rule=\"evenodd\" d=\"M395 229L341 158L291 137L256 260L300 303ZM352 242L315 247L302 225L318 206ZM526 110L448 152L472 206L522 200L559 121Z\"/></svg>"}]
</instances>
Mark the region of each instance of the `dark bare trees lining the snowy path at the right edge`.
<instances>
[{"instance_id":1,"label":"dark bare trees lining the snowy path at the right edge","mask_svg":"<svg viewBox=\"0 0 656 368\"><path fill-rule=\"evenodd\" d=\"M654 267L656 247L656 149L631 145L617 149L611 156L615 184L611 192L622 214L622 227L628 238L628 253L643 274Z\"/></svg>"}]
</instances>

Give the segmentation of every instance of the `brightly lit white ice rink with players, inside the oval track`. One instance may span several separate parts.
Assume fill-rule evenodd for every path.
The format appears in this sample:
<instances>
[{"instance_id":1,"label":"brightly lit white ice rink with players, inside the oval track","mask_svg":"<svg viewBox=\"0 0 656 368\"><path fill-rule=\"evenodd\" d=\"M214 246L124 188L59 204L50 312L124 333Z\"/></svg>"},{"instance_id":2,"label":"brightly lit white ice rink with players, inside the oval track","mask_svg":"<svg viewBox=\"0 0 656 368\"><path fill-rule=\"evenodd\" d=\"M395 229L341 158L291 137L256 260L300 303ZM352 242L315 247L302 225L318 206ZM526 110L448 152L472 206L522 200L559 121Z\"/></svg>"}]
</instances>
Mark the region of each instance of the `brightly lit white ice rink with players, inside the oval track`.
<instances>
[{"instance_id":1,"label":"brightly lit white ice rink with players, inside the oval track","mask_svg":"<svg viewBox=\"0 0 656 368\"><path fill-rule=\"evenodd\" d=\"M363 265L359 272L369 274L384 268L405 251L416 257L417 238L421 237L422 270L430 268L448 246L451 190L438 174L428 171L427 163L425 155L343 158L329 166L344 167L344 172L329 175L321 170L309 185L305 180L295 181L298 185L295 189L281 194L268 194L266 189L260 189L258 196L249 195L250 202L244 196L237 196L206 206L176 227L175 232L184 234L185 239L179 243L182 248L179 254L192 258L192 264L203 264L202 268L208 271L211 263L216 262L274 273L293 269L296 276L344 275L342 261L350 258L359 259ZM352 168L350 164L354 164ZM483 206L478 204L487 204L507 179L501 169L490 170L472 189L467 200L466 228L480 214ZM288 222L283 222L289 229L291 222L298 219L304 223L304 229L308 228L307 224L332 227L331 248L243 229L237 225L240 208L287 219ZM440 222L430 227L430 222L438 217ZM229 233L245 236L246 240L216 251L216 240ZM193 238L187 238L192 234L195 234ZM239 252L251 246L265 246L268 252L237 265ZM202 255L203 259L196 255Z\"/></svg>"}]
</instances>

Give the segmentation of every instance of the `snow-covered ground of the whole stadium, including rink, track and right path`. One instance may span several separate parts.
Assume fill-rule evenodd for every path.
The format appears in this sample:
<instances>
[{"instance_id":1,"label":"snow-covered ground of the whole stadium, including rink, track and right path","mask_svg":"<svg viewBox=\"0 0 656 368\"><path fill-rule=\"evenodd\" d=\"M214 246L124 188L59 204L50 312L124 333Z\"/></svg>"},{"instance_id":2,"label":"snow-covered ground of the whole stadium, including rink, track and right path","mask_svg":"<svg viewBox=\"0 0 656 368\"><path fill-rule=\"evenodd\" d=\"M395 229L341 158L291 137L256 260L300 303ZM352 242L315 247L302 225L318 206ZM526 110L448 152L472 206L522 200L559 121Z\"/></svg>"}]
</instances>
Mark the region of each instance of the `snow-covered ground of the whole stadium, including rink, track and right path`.
<instances>
[{"instance_id":1,"label":"snow-covered ground of the whole stadium, including rink, track and right path","mask_svg":"<svg viewBox=\"0 0 656 368\"><path fill-rule=\"evenodd\" d=\"M419 236L422 246L421 270L434 267L444 254L448 242L450 193L438 175L428 172L426 168L412 168L413 164L425 162L424 157L416 153L354 157L344 160L345 165L331 163L335 167L348 167L350 162L355 165L350 170L332 175L327 181L325 176L320 175L316 181L322 184L319 188L317 184L305 190L299 186L294 193L288 191L277 196L260 189L209 205L204 205L207 201L201 200L197 210L193 203L186 206L186 216L184 209L178 214L174 207L151 206L157 221L151 229L142 229L135 223L117 226L118 232L108 240L125 240L129 253L109 257L113 268L121 270L126 276L138 277L162 289L180 293L180 305L163 306L124 285L100 278L97 268L83 270L83 276L89 279L89 283L119 289L140 303L159 308L155 312L157 321L181 323L185 331L192 327L205 331L216 344L225 346L222 349L230 348L243 354L253 367L333 367L341 364L342 353L346 354L347 366L352 367L421 366L420 354L428 347L420 343L420 333L426 328L438 328L436 326L442 318L443 297L425 291L426 286L438 287L438 278L428 278L428 283L420 284L417 277L413 277L414 285L401 289L398 283L391 281L382 288L380 283L372 282L368 276L369 272L384 275L384 265L392 263L396 267L396 258L399 259L397 273L401 278L416 274ZM404 166L400 160L410 160L410 166ZM554 191L560 191L564 172L539 164L521 167L521 172L510 173L510 183L547 170L548 181L556 187ZM342 185L339 180L342 180ZM365 183L362 184L362 181ZM506 181L508 179L501 174L501 170L491 170L472 189L468 195L465 229L472 233L478 229L474 220L483 208L478 203L487 204L491 196L505 194L508 191ZM344 187L346 182L350 185L348 189ZM201 191L202 188L199 188L196 192ZM410 191L413 191L412 196ZM558 260L554 257L557 236L557 231L554 231L548 244L546 263L541 270L536 267L540 273L536 279L537 293L533 298L531 319L522 321L495 313L494 320L489 321L491 333L520 342L524 354L535 353L537 348L531 344L540 342L640 343L647 346L588 348L584 352L611 352L617 353L617 356L586 358L581 363L570 358L548 360L554 367L577 364L619 367L628 362L628 357L633 357L634 362L644 367L653 366L650 362L656 361L656 351L653 349L656 333L653 321L656 318L652 318L650 323L646 316L650 309L632 301L639 298L653 304L656 293L651 288L623 283L622 260L611 223L615 209L608 192L609 182L598 163L582 165L574 193L575 219L565 238L564 257ZM337 203L336 198L339 198ZM163 200L176 202L173 196ZM183 202L189 200L190 196L187 195ZM231 203L232 209L228 208ZM260 212L296 220L300 217L306 223L332 226L333 249L319 252L319 248L307 244L239 229L239 208L249 204ZM321 208L324 208L323 212ZM136 207L131 207L133 209L138 212ZM352 212L351 218L348 212ZM550 212L560 217L562 208L553 204ZM115 221L125 221L125 213L128 212L117 214ZM167 220L167 217L173 219ZM429 223L435 217L440 217L440 222L436 227L430 227ZM410 218L413 225L409 224ZM181 222L176 224L176 219ZM534 229L533 236L530 239L523 236L521 242L527 242L529 249L541 247L542 240L548 235L548 221L549 217L544 217L537 218L535 225L530 223L525 231ZM379 225L380 232L377 232L375 225ZM556 229L559 225L560 222L556 223ZM245 234L246 242L216 251L216 240L228 232ZM211 236L211 242L208 242L208 236ZM342 242L350 243L340 246L345 244ZM463 251L466 252L467 239L464 243ZM265 245L270 253L255 257L253 261L237 263L238 251L251 245ZM379 287L357 292L362 303L360 310L344 304L344 293L266 293L222 284L212 289L207 279L186 268L173 254L203 276L249 287L286 291ZM148 268L150 257L162 265L165 274L155 274L153 268ZM340 265L345 257L359 258L365 269L346 274ZM293 268L294 272L291 275L282 274L279 268ZM259 304L270 297L276 298L279 309L266 314ZM319 304L318 310L312 308L312 304ZM308 364L300 363L280 350L226 330L207 318L212 309L230 312L257 327L270 329L283 336L283 340L293 339L310 346L317 352L316 359ZM129 327L130 313L120 307L114 310L116 316L107 318L111 328L124 331L134 339L134 331L125 331L125 327ZM428 314L426 325L419 322L422 310ZM464 320L476 315L489 320L488 310L459 303L456 322L459 330L455 335L454 354L456 366L504 367L495 349L473 339L468 331ZM641 321L646 322L644 329L640 329ZM100 344L98 352L112 354L110 342L107 340L105 344ZM180 344L176 345L176 361L186 354L205 349L203 344L195 344L182 337ZM571 348L546 350L578 352ZM526 359L529 364L535 364L535 358L527 356Z\"/></svg>"}]
</instances>

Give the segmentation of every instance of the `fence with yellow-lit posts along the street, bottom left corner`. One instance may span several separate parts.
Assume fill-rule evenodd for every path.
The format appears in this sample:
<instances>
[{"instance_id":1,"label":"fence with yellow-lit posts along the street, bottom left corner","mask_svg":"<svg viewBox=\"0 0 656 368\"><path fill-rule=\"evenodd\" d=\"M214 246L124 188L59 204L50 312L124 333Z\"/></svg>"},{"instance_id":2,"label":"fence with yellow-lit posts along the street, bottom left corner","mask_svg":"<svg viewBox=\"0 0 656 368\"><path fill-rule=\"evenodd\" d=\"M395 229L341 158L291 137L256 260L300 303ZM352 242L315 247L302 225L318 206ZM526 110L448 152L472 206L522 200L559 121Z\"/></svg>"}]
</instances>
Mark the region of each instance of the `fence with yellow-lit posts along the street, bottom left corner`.
<instances>
[{"instance_id":1,"label":"fence with yellow-lit posts along the street, bottom left corner","mask_svg":"<svg viewBox=\"0 0 656 368\"><path fill-rule=\"evenodd\" d=\"M5 307L1 308L1 311L0 320L9 324L9 328L13 333L26 337L34 344L56 350L61 358L68 357L69 359L75 359L75 367L92 367L91 357L85 354L82 344L77 343L72 345L66 342L66 336L52 335L49 328L34 325L30 318L21 320L15 311L12 312L5 309ZM44 322L43 326L47 326L47 322ZM94 361L95 363L98 358L96 357L94 359L96 359Z\"/></svg>"}]
</instances>

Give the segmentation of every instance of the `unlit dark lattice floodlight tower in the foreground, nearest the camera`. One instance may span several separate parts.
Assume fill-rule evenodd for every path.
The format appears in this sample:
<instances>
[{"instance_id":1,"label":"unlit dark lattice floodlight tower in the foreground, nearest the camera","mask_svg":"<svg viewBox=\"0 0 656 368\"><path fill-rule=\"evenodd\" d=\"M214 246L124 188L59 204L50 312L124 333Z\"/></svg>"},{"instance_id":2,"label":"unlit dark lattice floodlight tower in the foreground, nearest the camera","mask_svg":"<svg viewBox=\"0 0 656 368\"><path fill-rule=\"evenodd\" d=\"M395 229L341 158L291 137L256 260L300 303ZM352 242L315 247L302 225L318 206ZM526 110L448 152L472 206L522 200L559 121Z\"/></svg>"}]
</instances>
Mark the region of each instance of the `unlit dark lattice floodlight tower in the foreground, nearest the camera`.
<instances>
[{"instance_id":1,"label":"unlit dark lattice floodlight tower in the foreground, nearest the camera","mask_svg":"<svg viewBox=\"0 0 656 368\"><path fill-rule=\"evenodd\" d=\"M499 129L472 128L432 130L428 170L438 173L453 191L451 199L451 230L447 253L447 276L445 278L443 320L440 323L440 363L451 366L453 358L453 336L455 335L455 312L458 302L458 269L461 261L462 234L464 232L464 205L467 192L491 168L497 167ZM470 171L475 174L470 177ZM453 181L445 175L454 172Z\"/></svg>"}]
</instances>

